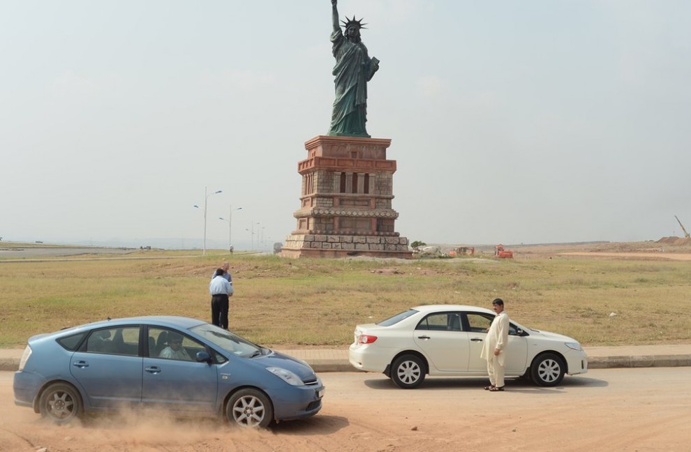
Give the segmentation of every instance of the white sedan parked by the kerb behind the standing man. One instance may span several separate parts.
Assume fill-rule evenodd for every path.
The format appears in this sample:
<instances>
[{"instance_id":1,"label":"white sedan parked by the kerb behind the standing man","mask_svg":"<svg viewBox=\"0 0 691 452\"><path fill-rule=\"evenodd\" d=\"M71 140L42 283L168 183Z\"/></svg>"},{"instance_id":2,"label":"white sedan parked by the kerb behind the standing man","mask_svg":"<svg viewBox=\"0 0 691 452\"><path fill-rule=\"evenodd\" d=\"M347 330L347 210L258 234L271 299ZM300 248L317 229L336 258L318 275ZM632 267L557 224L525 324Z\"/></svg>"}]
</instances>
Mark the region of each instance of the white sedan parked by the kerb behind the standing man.
<instances>
[{"instance_id":1,"label":"white sedan parked by the kerb behind the standing man","mask_svg":"<svg viewBox=\"0 0 691 452\"><path fill-rule=\"evenodd\" d=\"M355 327L350 364L383 372L403 389L417 388L425 375L487 375L480 359L494 312L475 306L417 306L376 324ZM556 386L565 374L588 371L588 356L573 338L510 322L507 377L528 377Z\"/></svg>"}]
</instances>

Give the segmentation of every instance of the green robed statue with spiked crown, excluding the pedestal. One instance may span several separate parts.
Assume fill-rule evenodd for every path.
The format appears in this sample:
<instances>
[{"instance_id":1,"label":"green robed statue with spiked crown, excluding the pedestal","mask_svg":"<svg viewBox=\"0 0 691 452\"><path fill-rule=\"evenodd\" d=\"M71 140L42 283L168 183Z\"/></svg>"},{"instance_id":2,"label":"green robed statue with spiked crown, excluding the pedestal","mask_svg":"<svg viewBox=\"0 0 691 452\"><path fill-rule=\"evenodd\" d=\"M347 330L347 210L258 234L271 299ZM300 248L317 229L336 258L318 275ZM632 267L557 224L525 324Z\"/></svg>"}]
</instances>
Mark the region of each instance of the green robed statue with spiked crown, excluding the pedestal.
<instances>
[{"instance_id":1,"label":"green robed statue with spiked crown, excluding the pedestal","mask_svg":"<svg viewBox=\"0 0 691 452\"><path fill-rule=\"evenodd\" d=\"M339 25L339 10L336 8L338 0L331 0L334 32L331 34L333 43L334 66L333 75L336 84L336 100L331 116L329 135L345 137L370 136L365 128L367 122L367 82L379 69L379 60L367 54L367 47L360 39L362 19L355 20L345 17L341 33Z\"/></svg>"}]
</instances>

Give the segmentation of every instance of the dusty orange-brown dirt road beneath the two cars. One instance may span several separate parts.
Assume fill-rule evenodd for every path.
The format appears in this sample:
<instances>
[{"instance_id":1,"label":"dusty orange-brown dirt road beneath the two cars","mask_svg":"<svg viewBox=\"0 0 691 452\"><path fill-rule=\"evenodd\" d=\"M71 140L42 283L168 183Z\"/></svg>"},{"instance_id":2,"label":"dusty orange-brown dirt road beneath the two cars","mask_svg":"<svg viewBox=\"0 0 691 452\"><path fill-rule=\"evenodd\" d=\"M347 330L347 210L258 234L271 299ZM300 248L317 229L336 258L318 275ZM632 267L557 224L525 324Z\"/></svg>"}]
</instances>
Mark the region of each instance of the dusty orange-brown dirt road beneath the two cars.
<instances>
[{"instance_id":1,"label":"dusty orange-brown dirt road beneath the two cars","mask_svg":"<svg viewBox=\"0 0 691 452\"><path fill-rule=\"evenodd\" d=\"M0 450L67 451L687 451L691 368L591 370L561 386L428 379L405 391L377 374L325 373L322 412L271 430L161 414L99 416L57 427L15 407L0 372Z\"/></svg>"}]
</instances>

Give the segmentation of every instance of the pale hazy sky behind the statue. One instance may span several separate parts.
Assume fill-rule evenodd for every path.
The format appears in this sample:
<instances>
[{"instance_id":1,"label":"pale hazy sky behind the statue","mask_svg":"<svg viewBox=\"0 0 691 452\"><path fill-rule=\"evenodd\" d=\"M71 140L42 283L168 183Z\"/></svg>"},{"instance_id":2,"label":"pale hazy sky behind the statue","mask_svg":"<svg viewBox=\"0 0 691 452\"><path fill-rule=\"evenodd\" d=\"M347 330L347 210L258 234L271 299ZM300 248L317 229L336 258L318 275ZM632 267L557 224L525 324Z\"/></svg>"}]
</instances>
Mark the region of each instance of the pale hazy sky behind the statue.
<instances>
[{"instance_id":1,"label":"pale hazy sky behind the statue","mask_svg":"<svg viewBox=\"0 0 691 452\"><path fill-rule=\"evenodd\" d=\"M392 140L410 241L691 229L691 1L339 12L381 60L367 129ZM0 0L0 236L201 246L207 187L207 246L231 204L236 248L284 241L331 119L331 29L329 0Z\"/></svg>"}]
</instances>

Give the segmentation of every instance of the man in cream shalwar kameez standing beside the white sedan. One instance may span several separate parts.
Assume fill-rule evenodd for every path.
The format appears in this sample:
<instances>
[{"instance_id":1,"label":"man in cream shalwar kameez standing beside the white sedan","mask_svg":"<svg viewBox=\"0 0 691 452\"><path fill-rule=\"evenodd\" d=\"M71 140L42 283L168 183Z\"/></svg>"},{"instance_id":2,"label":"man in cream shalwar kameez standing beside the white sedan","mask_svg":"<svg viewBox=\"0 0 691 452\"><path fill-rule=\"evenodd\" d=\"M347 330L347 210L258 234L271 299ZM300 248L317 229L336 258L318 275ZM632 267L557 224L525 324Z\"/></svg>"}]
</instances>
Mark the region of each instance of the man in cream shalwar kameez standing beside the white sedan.
<instances>
[{"instance_id":1,"label":"man in cream shalwar kameez standing beside the white sedan","mask_svg":"<svg viewBox=\"0 0 691 452\"><path fill-rule=\"evenodd\" d=\"M492 310L496 317L492 320L487 331L480 358L487 360L487 373L489 374L488 391L504 391L504 366L506 363L506 346L509 341L509 316L504 310L504 301L494 299Z\"/></svg>"}]
</instances>

